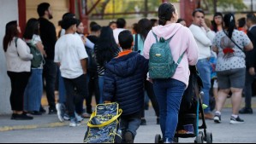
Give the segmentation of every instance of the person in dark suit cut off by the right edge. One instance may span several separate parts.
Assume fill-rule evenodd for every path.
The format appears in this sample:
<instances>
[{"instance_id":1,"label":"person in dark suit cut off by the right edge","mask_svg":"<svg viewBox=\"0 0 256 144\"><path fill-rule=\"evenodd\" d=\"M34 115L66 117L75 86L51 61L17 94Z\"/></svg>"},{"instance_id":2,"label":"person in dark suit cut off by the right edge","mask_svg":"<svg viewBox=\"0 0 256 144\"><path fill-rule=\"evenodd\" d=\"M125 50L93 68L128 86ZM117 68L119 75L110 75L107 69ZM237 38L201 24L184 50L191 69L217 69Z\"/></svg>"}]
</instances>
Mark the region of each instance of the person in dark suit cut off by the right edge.
<instances>
[{"instance_id":1,"label":"person in dark suit cut off by the right edge","mask_svg":"<svg viewBox=\"0 0 256 144\"><path fill-rule=\"evenodd\" d=\"M248 32L247 35L253 43L253 50L246 53L246 64L247 64L247 75L246 75L246 86L244 89L245 92L245 102L246 106L243 107L239 113L241 114L253 114L252 109L252 84L255 77L255 66L256 66L256 16L254 14L247 14L247 26Z\"/></svg>"}]
</instances>

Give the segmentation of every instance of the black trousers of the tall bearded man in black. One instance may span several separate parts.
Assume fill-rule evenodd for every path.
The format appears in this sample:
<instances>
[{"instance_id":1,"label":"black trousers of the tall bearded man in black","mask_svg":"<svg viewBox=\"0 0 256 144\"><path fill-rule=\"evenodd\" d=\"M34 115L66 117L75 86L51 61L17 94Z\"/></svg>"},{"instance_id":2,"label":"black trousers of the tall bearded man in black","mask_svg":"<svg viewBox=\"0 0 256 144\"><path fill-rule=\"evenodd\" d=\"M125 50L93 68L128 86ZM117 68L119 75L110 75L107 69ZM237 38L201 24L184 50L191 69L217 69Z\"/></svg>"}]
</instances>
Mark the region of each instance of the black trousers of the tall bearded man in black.
<instances>
[{"instance_id":1,"label":"black trousers of the tall bearded man in black","mask_svg":"<svg viewBox=\"0 0 256 144\"><path fill-rule=\"evenodd\" d=\"M44 77L46 81L46 97L50 108L55 109L55 83L57 78L57 65L53 60L45 59Z\"/></svg>"}]
</instances>

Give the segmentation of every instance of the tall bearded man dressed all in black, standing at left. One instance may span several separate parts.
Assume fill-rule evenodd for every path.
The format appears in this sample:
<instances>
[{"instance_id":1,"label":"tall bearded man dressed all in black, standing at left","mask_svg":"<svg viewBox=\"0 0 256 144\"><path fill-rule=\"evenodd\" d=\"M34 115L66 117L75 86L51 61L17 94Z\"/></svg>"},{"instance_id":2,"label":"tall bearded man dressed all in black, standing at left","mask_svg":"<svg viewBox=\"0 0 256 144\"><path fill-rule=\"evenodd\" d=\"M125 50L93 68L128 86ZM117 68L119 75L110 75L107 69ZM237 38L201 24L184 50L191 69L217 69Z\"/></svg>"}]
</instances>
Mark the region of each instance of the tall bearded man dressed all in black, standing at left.
<instances>
[{"instance_id":1,"label":"tall bearded man dressed all in black, standing at left","mask_svg":"<svg viewBox=\"0 0 256 144\"><path fill-rule=\"evenodd\" d=\"M54 63L54 48L57 42L57 33L55 26L49 21L52 19L51 5L49 3L40 3L38 6L39 31L43 45L45 47L46 57L44 66L44 77L46 81L46 96L49 104L49 114L56 114L55 107L55 83L57 78L57 65Z\"/></svg>"}]
</instances>

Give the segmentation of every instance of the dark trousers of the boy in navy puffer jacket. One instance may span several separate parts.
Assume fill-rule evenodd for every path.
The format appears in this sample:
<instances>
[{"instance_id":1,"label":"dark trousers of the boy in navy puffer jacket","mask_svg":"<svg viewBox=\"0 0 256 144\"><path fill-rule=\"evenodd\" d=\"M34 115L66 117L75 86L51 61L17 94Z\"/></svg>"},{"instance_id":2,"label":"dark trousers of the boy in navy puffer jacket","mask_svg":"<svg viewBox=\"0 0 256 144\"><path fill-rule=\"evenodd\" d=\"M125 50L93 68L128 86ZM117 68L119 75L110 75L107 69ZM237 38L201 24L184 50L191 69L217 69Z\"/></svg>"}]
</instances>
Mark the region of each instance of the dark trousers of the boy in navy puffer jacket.
<instances>
[{"instance_id":1,"label":"dark trousers of the boy in navy puffer jacket","mask_svg":"<svg viewBox=\"0 0 256 144\"><path fill-rule=\"evenodd\" d=\"M137 135L137 130L140 127L141 122L141 112L136 112L127 116L121 116L120 128L122 130L122 138L126 132L131 132L135 136ZM122 143L125 143L125 140L122 139Z\"/></svg>"}]
</instances>

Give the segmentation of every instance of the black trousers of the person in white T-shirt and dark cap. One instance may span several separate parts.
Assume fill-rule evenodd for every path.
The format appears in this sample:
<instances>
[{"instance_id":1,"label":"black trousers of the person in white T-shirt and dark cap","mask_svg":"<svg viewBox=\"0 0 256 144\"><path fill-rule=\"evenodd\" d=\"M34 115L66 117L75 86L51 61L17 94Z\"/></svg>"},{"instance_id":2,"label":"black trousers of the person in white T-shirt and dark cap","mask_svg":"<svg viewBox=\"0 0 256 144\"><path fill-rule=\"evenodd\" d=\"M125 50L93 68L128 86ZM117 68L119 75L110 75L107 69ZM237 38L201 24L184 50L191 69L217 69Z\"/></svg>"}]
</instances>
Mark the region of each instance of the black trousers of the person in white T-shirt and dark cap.
<instances>
[{"instance_id":1,"label":"black trousers of the person in white T-shirt and dark cap","mask_svg":"<svg viewBox=\"0 0 256 144\"><path fill-rule=\"evenodd\" d=\"M84 101L87 96L86 75L79 78L64 78L64 84L67 92L66 106L68 115L74 118L75 106L80 106L80 102ZM74 91L76 88L76 92Z\"/></svg>"}]
</instances>

